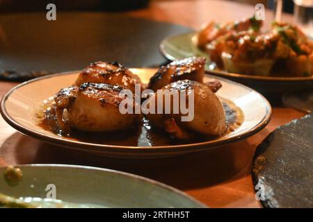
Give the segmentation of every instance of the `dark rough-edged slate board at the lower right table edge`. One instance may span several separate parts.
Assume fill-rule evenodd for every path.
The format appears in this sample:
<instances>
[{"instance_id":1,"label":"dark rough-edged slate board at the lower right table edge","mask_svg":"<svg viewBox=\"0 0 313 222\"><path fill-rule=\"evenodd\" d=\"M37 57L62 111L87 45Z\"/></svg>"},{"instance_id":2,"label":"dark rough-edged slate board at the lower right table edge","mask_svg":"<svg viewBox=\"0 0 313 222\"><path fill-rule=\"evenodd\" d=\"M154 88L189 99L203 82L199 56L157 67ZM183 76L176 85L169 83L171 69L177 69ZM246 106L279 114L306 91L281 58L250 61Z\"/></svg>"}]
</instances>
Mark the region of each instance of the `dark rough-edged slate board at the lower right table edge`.
<instances>
[{"instance_id":1,"label":"dark rough-edged slate board at the lower right table edge","mask_svg":"<svg viewBox=\"0 0 313 222\"><path fill-rule=\"evenodd\" d=\"M265 187L264 207L313 207L313 114L264 139L255 153L252 180Z\"/></svg>"}]
</instances>

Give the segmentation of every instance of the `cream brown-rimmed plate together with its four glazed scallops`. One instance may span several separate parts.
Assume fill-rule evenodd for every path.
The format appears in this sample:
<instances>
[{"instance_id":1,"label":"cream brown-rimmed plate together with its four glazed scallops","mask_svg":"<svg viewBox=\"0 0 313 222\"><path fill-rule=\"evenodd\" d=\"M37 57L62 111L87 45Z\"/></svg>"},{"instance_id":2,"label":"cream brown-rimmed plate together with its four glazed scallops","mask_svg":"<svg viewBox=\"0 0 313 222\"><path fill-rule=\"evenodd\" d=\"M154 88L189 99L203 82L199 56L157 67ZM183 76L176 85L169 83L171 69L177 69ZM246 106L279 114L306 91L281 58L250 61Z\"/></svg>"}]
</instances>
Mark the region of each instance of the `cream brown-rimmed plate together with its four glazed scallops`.
<instances>
[{"instance_id":1,"label":"cream brown-rimmed plate together with its four glazed scallops","mask_svg":"<svg viewBox=\"0 0 313 222\"><path fill-rule=\"evenodd\" d=\"M17 85L3 96L10 126L42 141L120 158L170 157L249 137L271 118L258 92L204 73L202 57L159 69L93 62Z\"/></svg>"}]
</instances>

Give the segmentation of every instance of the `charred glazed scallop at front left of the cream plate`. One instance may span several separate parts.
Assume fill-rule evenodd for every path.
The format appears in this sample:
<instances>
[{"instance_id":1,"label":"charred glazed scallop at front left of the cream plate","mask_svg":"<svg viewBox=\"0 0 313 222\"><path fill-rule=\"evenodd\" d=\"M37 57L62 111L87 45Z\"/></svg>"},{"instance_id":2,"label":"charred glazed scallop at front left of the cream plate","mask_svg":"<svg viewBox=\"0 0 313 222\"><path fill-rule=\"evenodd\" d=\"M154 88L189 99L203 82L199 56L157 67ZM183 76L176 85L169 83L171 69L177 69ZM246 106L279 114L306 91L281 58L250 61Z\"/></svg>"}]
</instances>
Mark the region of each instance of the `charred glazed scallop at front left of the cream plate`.
<instances>
[{"instance_id":1,"label":"charred glazed scallop at front left of the cream plate","mask_svg":"<svg viewBox=\"0 0 313 222\"><path fill-rule=\"evenodd\" d=\"M54 98L58 123L65 131L70 128L92 132L122 130L136 123L135 114L121 114L120 102L125 89L105 83L83 83L61 89Z\"/></svg>"}]
</instances>

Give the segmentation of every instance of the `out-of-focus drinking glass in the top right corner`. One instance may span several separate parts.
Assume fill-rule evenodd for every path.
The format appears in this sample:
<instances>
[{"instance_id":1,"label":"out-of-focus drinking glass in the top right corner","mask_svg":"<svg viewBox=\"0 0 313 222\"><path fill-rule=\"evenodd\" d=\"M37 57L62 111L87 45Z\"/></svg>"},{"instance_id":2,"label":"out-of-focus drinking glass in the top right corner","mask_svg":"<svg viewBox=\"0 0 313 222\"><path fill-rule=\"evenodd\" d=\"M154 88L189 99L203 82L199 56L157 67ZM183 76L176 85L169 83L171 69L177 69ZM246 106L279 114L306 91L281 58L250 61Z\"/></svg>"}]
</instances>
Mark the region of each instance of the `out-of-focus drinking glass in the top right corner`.
<instances>
[{"instance_id":1,"label":"out-of-focus drinking glass in the top right corner","mask_svg":"<svg viewBox=\"0 0 313 222\"><path fill-rule=\"evenodd\" d=\"M294 21L313 38L313 0L294 0Z\"/></svg>"}]
</instances>

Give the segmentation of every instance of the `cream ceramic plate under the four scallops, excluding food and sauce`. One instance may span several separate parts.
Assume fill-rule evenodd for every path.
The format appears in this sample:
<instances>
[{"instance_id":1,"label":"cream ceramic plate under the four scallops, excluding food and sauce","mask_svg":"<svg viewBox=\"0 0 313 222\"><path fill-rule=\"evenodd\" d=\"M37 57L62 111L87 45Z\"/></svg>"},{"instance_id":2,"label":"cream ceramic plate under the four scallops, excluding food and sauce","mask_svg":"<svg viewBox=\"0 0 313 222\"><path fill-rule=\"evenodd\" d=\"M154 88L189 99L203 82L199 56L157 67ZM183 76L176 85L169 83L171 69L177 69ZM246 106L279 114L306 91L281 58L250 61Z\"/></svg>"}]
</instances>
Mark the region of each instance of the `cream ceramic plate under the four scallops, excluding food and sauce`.
<instances>
[{"instance_id":1,"label":"cream ceramic plate under the four scallops, excluding food and sauce","mask_svg":"<svg viewBox=\"0 0 313 222\"><path fill-rule=\"evenodd\" d=\"M131 71L138 74L143 83L147 83L156 72L156 69L131 69ZM166 137L168 140L161 138L165 139L165 142L161 145L151 144L144 130L135 133L136 138L123 133L113 133L111 134L113 138L110 137L109 142L97 139L90 142L89 137L88 139L69 139L39 126L38 119L35 116L38 114L38 107L42 105L45 99L53 96L59 89L72 85L78 74L79 72L55 74L17 85L3 96L1 101L3 118L20 132L46 142L97 155L149 158L201 151L243 139L264 128L271 117L271 105L253 89L223 78L205 76L204 82L211 78L220 80L223 87L217 95L221 99L232 101L243 113L243 123L231 133L227 133L222 137L204 138L206 140L202 140L202 142L187 144L175 144L172 143L172 139ZM115 135L120 137L114 139ZM159 139L157 139L157 142L159 142Z\"/></svg>"}]
</instances>

